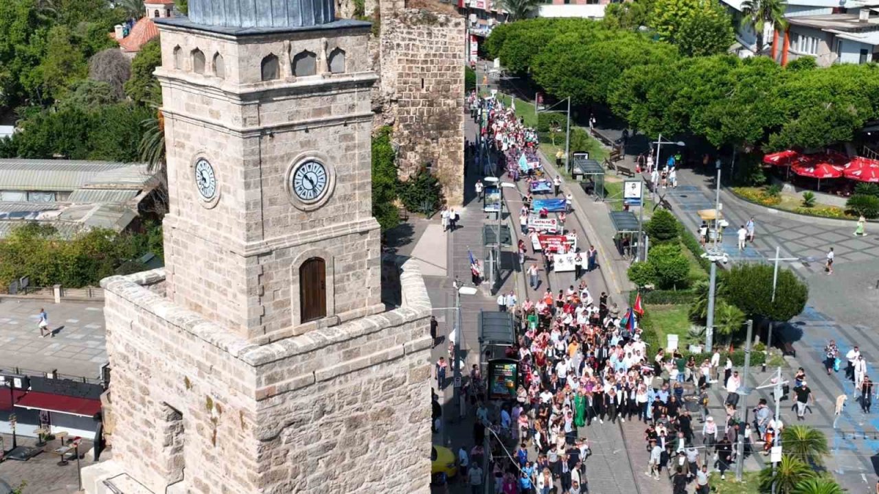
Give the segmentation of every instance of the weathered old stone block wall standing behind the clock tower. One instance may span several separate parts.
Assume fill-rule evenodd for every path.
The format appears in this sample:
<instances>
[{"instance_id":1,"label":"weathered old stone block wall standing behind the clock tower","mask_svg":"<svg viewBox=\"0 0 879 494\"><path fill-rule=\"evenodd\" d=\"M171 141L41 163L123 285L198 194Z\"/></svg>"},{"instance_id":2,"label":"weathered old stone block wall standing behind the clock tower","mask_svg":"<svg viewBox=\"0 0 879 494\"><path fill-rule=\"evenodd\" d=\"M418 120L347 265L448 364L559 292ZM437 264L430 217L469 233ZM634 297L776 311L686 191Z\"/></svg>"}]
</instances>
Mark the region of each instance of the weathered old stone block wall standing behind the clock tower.
<instances>
[{"instance_id":1,"label":"weathered old stone block wall standing behind the clock tower","mask_svg":"<svg viewBox=\"0 0 879 494\"><path fill-rule=\"evenodd\" d=\"M382 0L382 120L393 122L405 179L432 164L447 203L461 206L464 187L465 23L457 14L406 9Z\"/></svg>"}]
</instances>

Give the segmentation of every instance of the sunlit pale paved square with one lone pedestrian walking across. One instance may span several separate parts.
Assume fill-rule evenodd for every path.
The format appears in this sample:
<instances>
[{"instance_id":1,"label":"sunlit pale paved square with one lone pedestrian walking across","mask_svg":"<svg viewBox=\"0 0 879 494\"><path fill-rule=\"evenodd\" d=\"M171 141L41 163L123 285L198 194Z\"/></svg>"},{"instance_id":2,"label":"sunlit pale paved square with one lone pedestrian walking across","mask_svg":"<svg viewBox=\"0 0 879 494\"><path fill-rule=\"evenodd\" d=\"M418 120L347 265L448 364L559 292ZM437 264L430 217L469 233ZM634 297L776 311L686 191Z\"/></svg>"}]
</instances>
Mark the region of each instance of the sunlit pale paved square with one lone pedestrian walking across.
<instances>
[{"instance_id":1,"label":"sunlit pale paved square with one lone pedestrian walking across","mask_svg":"<svg viewBox=\"0 0 879 494\"><path fill-rule=\"evenodd\" d=\"M0 368L20 367L31 374L57 369L60 374L98 378L106 363L104 303L0 301ZM40 308L48 314L53 338L40 338Z\"/></svg>"}]
</instances>

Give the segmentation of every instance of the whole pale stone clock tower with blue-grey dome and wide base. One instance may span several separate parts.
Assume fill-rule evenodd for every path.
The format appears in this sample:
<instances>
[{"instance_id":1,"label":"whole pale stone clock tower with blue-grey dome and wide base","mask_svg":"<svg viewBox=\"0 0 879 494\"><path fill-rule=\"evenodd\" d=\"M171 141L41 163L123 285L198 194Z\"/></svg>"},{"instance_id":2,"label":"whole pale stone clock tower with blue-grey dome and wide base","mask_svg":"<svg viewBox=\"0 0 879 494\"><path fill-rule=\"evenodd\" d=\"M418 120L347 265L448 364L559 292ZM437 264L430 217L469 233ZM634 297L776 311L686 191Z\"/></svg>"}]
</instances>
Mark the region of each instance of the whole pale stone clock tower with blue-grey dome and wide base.
<instances>
[{"instance_id":1,"label":"whole pale stone clock tower with blue-grey dome and wide base","mask_svg":"<svg viewBox=\"0 0 879 494\"><path fill-rule=\"evenodd\" d=\"M417 267L381 303L370 25L190 0L162 40L163 270L105 287L113 459L87 492L427 492Z\"/></svg>"}]
</instances>

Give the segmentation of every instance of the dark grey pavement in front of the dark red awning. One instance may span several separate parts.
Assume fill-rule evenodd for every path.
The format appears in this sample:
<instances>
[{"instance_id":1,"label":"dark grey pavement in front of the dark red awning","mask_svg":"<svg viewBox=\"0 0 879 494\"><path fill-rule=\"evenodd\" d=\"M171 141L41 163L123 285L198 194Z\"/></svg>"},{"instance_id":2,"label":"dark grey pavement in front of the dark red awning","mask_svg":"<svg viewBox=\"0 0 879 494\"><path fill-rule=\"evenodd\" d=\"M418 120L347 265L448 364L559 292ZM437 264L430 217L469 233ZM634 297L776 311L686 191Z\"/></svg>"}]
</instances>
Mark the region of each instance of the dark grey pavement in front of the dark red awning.
<instances>
[{"instance_id":1,"label":"dark grey pavement in front of the dark red awning","mask_svg":"<svg viewBox=\"0 0 879 494\"><path fill-rule=\"evenodd\" d=\"M12 444L12 436L3 434L2 437L6 448L9 449ZM18 446L33 447L35 443L34 438L18 437ZM13 488L25 482L23 494L73 494L79 492L76 460L68 461L67 465L58 465L60 457L52 453L52 450L59 446L57 440L50 441L43 453L28 461L8 460L0 463L0 478ZM83 455L80 460L82 468L94 463L89 450L91 450L91 442L84 440L79 447L80 454ZM101 459L104 459L103 456Z\"/></svg>"}]
</instances>

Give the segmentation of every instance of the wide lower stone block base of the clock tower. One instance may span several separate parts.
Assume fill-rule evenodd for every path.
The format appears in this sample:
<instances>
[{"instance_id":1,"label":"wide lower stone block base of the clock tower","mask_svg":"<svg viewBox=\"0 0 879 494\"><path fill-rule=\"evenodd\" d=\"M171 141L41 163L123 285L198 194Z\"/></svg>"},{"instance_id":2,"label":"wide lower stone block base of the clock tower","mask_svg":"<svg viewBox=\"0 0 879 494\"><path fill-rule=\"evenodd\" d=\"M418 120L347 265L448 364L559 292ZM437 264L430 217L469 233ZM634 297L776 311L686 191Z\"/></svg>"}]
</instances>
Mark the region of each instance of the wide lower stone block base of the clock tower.
<instances>
[{"instance_id":1,"label":"wide lower stone block base of the clock tower","mask_svg":"<svg viewBox=\"0 0 879 494\"><path fill-rule=\"evenodd\" d=\"M113 461L153 492L430 490L430 300L254 345L163 298L163 270L106 291ZM95 492L100 478L90 479ZM215 479L222 479L218 482Z\"/></svg>"}]
</instances>

